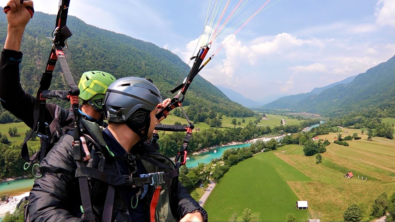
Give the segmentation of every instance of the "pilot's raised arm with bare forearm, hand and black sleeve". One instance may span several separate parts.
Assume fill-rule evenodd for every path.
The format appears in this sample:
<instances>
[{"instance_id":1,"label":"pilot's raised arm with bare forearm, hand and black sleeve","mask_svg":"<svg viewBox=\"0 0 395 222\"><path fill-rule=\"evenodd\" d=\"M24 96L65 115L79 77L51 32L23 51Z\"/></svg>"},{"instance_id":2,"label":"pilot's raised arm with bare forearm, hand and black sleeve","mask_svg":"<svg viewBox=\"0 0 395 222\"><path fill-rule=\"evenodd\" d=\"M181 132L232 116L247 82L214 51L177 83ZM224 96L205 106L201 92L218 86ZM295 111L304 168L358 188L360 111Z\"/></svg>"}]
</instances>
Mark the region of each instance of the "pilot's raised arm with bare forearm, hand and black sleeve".
<instances>
[{"instance_id":1,"label":"pilot's raised arm with bare forearm, hand and black sleeve","mask_svg":"<svg viewBox=\"0 0 395 222\"><path fill-rule=\"evenodd\" d=\"M20 83L19 64L22 61L21 42L30 13L26 6L33 6L31 0L20 4L11 0L7 4L11 10L7 13L8 32L0 58L0 101L4 109L33 128L33 110L36 98L24 92ZM46 120L50 124L55 116L55 105L47 104Z\"/></svg>"}]
</instances>

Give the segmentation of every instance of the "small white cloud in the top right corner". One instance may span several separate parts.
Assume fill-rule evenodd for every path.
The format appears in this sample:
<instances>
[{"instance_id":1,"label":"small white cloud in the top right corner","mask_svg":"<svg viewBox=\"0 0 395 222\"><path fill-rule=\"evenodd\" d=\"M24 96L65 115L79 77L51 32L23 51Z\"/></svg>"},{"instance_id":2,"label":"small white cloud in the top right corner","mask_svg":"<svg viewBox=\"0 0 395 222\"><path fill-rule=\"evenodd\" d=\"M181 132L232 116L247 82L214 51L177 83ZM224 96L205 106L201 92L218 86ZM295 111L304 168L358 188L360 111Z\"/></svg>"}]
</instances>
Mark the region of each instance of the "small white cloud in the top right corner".
<instances>
[{"instance_id":1,"label":"small white cloud in the top right corner","mask_svg":"<svg viewBox=\"0 0 395 222\"><path fill-rule=\"evenodd\" d=\"M376 23L379 25L389 25L395 27L395 1L379 0L376 5Z\"/></svg>"}]
</instances>

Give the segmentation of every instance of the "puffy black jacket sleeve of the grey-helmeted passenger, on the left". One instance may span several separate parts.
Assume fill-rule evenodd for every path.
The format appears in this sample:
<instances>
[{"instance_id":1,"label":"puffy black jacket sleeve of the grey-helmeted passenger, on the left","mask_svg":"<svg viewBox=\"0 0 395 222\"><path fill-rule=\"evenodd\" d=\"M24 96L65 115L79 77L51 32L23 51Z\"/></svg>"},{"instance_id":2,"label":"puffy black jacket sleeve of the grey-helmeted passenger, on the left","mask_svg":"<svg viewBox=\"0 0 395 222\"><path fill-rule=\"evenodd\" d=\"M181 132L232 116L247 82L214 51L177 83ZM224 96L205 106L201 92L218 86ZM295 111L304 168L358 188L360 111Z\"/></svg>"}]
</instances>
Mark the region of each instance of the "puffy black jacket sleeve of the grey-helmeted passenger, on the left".
<instances>
[{"instance_id":1,"label":"puffy black jacket sleeve of the grey-helmeted passenger, on the left","mask_svg":"<svg viewBox=\"0 0 395 222\"><path fill-rule=\"evenodd\" d=\"M41 166L60 166L74 171L73 137L64 135L40 163ZM74 173L44 173L34 181L29 196L29 219L34 221L86 221L70 213L69 207L75 205L71 181Z\"/></svg>"}]
</instances>

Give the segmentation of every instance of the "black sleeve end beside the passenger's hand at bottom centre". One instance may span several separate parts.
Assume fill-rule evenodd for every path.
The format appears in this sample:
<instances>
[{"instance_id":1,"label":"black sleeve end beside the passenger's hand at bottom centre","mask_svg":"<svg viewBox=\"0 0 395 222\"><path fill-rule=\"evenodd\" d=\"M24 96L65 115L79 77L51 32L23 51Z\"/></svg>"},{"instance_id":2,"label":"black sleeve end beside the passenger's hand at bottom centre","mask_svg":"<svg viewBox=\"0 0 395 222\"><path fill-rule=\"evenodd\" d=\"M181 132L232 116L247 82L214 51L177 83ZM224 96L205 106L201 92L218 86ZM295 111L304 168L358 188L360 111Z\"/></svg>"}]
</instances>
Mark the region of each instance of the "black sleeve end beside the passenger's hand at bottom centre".
<instances>
[{"instance_id":1,"label":"black sleeve end beside the passenger's hand at bottom centre","mask_svg":"<svg viewBox=\"0 0 395 222\"><path fill-rule=\"evenodd\" d=\"M203 216L203 221L207 222L207 212L203 207L199 205L199 203L192 198L192 196L188 193L185 186L182 186L181 182L178 182L179 189L179 203L178 203L178 213L181 215L180 218L183 218L187 213L192 213L194 211L198 211Z\"/></svg>"}]
</instances>

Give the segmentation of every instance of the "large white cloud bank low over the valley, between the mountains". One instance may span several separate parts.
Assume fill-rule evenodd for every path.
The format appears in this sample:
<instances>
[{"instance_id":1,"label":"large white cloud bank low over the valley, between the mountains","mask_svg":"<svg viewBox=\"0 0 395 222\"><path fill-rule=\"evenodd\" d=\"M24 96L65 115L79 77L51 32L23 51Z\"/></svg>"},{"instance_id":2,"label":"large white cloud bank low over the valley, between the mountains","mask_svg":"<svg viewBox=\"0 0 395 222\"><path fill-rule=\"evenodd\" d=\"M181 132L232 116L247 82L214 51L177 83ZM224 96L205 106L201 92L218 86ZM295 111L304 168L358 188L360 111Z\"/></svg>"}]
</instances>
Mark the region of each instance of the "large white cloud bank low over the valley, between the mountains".
<instances>
[{"instance_id":1,"label":"large white cloud bank low over the valley, between the mountains","mask_svg":"<svg viewBox=\"0 0 395 222\"><path fill-rule=\"evenodd\" d=\"M395 44L371 39L297 38L280 33L250 41L227 36L216 45L225 41L200 75L256 101L270 94L309 92L365 72L395 54ZM187 46L196 43L197 39Z\"/></svg>"}]
</instances>

